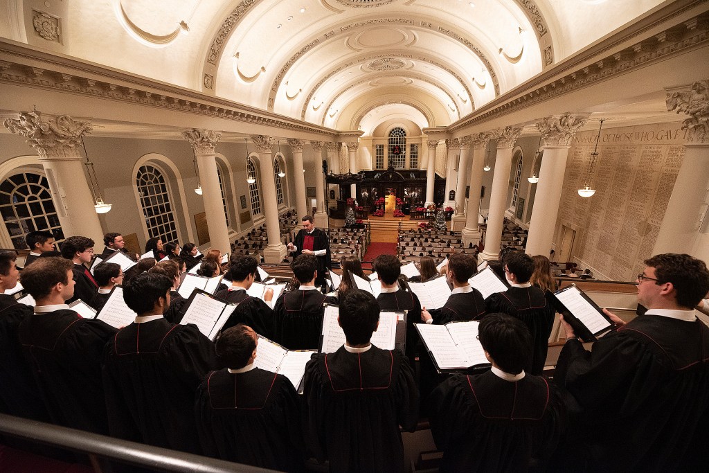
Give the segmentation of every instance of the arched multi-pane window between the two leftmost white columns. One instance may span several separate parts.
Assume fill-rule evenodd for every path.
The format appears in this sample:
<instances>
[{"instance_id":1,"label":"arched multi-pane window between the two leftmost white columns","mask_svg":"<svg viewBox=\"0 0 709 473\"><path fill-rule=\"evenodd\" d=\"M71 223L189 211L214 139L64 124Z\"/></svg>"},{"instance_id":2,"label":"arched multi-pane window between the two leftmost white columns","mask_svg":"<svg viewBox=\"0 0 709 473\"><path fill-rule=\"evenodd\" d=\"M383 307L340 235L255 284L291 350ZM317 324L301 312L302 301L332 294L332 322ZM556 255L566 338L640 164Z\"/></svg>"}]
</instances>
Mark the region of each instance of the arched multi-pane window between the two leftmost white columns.
<instances>
[{"instance_id":1,"label":"arched multi-pane window between the two leftmost white columns","mask_svg":"<svg viewBox=\"0 0 709 473\"><path fill-rule=\"evenodd\" d=\"M177 226L162 171L153 165L143 165L138 169L135 184L138 186L147 234L150 238L162 238L164 243L177 241Z\"/></svg>"}]
</instances>

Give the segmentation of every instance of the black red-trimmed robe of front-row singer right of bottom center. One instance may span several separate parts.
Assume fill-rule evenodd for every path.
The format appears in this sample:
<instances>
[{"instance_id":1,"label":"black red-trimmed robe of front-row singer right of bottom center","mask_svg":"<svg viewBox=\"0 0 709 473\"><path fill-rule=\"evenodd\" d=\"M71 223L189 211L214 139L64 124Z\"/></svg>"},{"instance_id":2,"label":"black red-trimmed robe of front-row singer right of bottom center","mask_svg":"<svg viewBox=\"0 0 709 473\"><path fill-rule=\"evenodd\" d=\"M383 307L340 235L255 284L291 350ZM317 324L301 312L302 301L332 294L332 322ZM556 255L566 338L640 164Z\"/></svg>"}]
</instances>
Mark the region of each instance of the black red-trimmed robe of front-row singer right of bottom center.
<instances>
[{"instance_id":1,"label":"black red-trimmed robe of front-row singer right of bottom center","mask_svg":"<svg viewBox=\"0 0 709 473\"><path fill-rule=\"evenodd\" d=\"M530 460L542 466L566 421L554 386L530 374L518 381L491 371L456 374L432 392L429 404L441 472L524 472Z\"/></svg>"}]
</instances>

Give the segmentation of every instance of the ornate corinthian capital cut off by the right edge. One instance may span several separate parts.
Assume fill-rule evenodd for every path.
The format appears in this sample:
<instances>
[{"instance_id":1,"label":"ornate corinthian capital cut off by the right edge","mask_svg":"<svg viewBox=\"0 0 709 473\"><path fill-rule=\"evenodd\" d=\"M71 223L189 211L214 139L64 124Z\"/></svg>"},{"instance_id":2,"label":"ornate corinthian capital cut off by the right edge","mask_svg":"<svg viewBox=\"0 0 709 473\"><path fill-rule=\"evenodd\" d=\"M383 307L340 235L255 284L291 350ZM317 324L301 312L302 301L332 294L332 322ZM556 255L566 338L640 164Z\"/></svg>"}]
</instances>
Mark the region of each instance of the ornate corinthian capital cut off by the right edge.
<instances>
[{"instance_id":1,"label":"ornate corinthian capital cut off by the right edge","mask_svg":"<svg viewBox=\"0 0 709 473\"><path fill-rule=\"evenodd\" d=\"M709 143L709 79L695 82L688 91L667 94L666 104L668 111L689 116L682 122L689 143Z\"/></svg>"}]
</instances>

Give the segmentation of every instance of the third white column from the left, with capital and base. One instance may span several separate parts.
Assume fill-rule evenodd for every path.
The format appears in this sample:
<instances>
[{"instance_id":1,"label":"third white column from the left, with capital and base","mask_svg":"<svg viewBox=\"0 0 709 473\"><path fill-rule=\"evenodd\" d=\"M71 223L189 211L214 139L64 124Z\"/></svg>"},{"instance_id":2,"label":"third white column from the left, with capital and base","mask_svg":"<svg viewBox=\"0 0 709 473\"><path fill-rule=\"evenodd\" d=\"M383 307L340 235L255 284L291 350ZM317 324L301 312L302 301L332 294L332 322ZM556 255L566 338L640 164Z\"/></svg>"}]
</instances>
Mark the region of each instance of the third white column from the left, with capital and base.
<instances>
[{"instance_id":1,"label":"third white column from the left, with capital and base","mask_svg":"<svg viewBox=\"0 0 709 473\"><path fill-rule=\"evenodd\" d=\"M264 200L266 214L266 234L268 246L264 249L264 262L277 264L286 256L286 245L281 243L281 230L278 223L278 202L276 200L276 178L273 174L273 143L274 138L266 135L253 135L251 140L256 143L259 153L259 169L261 169L261 197Z\"/></svg>"}]
</instances>

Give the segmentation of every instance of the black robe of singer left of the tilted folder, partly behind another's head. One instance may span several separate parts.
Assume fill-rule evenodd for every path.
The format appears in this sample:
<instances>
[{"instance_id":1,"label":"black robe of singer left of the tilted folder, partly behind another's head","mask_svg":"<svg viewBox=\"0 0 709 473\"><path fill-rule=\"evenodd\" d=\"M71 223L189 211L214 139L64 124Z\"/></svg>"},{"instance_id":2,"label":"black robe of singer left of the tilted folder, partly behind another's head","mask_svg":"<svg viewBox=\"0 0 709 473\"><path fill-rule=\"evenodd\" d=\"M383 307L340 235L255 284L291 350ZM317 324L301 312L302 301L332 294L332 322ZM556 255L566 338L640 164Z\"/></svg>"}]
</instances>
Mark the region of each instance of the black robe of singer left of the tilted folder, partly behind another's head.
<instances>
[{"instance_id":1,"label":"black robe of singer left of the tilted folder, partly behind another's head","mask_svg":"<svg viewBox=\"0 0 709 473\"><path fill-rule=\"evenodd\" d=\"M506 313L523 321L532 333L532 360L525 371L542 374L547 362L549 335L554 325L554 308L549 306L544 291L535 286L510 287L485 301L486 313Z\"/></svg>"}]
</instances>

